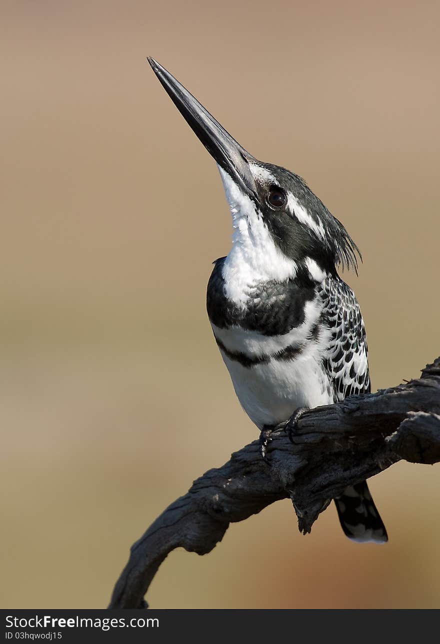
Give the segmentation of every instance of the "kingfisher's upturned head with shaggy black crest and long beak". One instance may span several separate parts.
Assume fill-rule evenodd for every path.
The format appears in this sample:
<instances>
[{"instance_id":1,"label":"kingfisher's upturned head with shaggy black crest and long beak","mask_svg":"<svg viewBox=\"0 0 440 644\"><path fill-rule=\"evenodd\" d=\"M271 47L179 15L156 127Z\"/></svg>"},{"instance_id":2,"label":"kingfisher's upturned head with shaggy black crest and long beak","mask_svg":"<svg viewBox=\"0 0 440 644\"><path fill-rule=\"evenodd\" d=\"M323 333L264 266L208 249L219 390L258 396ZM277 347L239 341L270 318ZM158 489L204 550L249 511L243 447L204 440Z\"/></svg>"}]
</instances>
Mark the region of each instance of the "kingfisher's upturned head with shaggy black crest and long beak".
<instances>
[{"instance_id":1,"label":"kingfisher's upturned head with shaggy black crest and long beak","mask_svg":"<svg viewBox=\"0 0 440 644\"><path fill-rule=\"evenodd\" d=\"M250 155L169 71L154 59L148 61L215 159L236 234L246 235L262 253L265 243L273 244L292 265L307 262L316 279L340 264L357 270L358 247L304 180Z\"/></svg>"}]
</instances>

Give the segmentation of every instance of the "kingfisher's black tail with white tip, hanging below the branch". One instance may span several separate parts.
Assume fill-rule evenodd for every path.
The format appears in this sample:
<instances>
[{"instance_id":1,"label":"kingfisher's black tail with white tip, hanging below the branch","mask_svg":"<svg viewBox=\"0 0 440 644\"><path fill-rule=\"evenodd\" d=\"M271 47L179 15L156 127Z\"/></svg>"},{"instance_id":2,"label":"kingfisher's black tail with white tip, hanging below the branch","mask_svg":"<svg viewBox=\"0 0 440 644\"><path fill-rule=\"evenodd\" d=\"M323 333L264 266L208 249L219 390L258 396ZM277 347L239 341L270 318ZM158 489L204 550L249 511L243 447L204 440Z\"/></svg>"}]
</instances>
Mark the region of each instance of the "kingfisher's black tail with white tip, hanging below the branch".
<instances>
[{"instance_id":1,"label":"kingfisher's black tail with white tip, hanging below the branch","mask_svg":"<svg viewBox=\"0 0 440 644\"><path fill-rule=\"evenodd\" d=\"M385 544L387 529L370 495L367 481L346 488L334 499L342 529L353 541Z\"/></svg>"}]
</instances>

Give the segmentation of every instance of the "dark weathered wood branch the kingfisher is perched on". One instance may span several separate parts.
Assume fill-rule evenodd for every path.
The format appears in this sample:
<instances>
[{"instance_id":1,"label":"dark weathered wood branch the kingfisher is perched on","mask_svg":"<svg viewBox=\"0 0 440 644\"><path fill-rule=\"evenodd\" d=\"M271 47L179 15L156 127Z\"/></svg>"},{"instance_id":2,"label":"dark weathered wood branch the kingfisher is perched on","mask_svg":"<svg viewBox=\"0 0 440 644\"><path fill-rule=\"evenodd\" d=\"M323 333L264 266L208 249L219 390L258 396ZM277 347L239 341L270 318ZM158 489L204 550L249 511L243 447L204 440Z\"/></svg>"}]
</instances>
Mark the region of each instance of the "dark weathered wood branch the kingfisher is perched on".
<instances>
[{"instance_id":1,"label":"dark weathered wood branch the kingfisher is perched on","mask_svg":"<svg viewBox=\"0 0 440 644\"><path fill-rule=\"evenodd\" d=\"M167 554L177 547L209 553L231 522L291 498L303 533L328 500L398 460L440 461L440 358L421 378L357 395L305 413L291 444L282 428L269 444L268 467L258 441L221 468L195 480L131 547L110 608L145 607L144 594Z\"/></svg>"}]
</instances>

